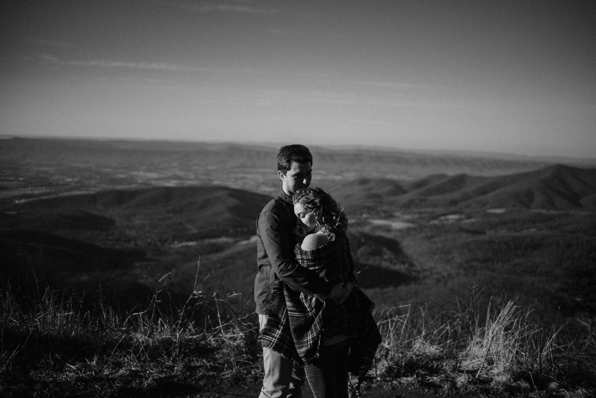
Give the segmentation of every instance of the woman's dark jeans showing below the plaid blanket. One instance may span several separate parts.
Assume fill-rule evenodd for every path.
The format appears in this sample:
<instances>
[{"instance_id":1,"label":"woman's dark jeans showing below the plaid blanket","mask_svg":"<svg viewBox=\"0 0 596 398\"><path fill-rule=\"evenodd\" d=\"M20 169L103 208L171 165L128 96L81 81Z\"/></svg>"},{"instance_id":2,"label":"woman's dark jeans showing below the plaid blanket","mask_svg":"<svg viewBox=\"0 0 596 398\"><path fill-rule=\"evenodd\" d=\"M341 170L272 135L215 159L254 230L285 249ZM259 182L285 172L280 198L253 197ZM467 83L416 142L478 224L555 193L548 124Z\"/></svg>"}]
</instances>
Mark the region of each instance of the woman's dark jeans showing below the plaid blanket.
<instances>
[{"instance_id":1,"label":"woman's dark jeans showing below the plaid blanket","mask_svg":"<svg viewBox=\"0 0 596 398\"><path fill-rule=\"evenodd\" d=\"M347 398L346 359L350 340L324 345L316 362L305 366L306 379L315 398Z\"/></svg>"}]
</instances>

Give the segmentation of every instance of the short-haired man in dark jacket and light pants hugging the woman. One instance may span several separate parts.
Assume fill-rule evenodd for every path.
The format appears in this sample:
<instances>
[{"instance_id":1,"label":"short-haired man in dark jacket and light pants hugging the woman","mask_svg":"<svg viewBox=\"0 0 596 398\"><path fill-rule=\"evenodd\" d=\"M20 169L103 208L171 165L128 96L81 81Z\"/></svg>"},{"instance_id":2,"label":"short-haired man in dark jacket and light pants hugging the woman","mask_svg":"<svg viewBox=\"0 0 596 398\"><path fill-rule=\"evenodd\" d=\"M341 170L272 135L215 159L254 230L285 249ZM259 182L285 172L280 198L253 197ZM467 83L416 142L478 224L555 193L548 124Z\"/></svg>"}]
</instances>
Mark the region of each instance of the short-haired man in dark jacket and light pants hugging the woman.
<instances>
[{"instance_id":1,"label":"short-haired man in dark jacket and light pants hugging the woman","mask_svg":"<svg viewBox=\"0 0 596 398\"><path fill-rule=\"evenodd\" d=\"M294 256L296 215L292 196L311 184L312 155L303 145L281 147L277 155L277 173L282 181L280 194L269 202L257 217L257 266L254 279L254 301L261 329L266 322L279 320L285 310L283 286L319 300L343 301L353 286L328 286L324 279L302 267ZM343 287L343 289L342 289ZM291 336L290 336L291 338ZM281 350L263 347L265 377L259 398L300 398L305 373Z\"/></svg>"}]
</instances>

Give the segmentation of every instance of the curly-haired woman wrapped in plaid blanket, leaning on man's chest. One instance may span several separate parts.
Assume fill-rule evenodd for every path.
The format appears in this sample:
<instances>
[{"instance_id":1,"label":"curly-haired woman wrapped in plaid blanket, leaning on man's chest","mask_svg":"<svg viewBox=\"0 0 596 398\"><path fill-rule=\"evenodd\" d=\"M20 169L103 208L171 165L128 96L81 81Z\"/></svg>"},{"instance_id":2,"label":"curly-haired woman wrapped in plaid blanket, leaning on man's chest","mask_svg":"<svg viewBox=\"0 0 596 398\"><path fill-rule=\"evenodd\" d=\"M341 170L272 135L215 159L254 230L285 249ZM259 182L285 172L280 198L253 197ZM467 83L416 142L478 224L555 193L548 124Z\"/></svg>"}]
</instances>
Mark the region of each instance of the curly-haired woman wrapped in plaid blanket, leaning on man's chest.
<instances>
[{"instance_id":1,"label":"curly-haired woman wrapped in plaid blanket, leaning on man's chest","mask_svg":"<svg viewBox=\"0 0 596 398\"><path fill-rule=\"evenodd\" d=\"M296 258L331 285L356 283L347 217L339 204L321 188L306 188L293 196L302 240ZM371 311L374 304L358 288L346 301L322 303L284 286L291 335L305 362L306 377L316 398L359 395L359 377L371 366L380 334ZM350 374L350 377L348 377Z\"/></svg>"}]
</instances>

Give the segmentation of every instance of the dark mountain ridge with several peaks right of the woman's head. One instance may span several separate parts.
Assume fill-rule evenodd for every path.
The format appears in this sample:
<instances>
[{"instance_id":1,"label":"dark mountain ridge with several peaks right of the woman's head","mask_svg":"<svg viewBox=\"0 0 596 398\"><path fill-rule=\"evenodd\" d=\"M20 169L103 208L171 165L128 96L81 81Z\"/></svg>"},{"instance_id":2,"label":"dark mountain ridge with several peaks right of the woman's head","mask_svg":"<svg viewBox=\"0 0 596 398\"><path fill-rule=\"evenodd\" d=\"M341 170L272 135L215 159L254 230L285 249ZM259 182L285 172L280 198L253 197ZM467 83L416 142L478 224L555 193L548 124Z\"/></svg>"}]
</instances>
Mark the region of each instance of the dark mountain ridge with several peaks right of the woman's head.
<instances>
[{"instance_id":1,"label":"dark mountain ridge with several peaks right of the woman's head","mask_svg":"<svg viewBox=\"0 0 596 398\"><path fill-rule=\"evenodd\" d=\"M336 198L346 204L596 211L596 169L552 165L495 177L437 174L415 181L363 178L343 184L338 192L341 195Z\"/></svg>"}]
</instances>

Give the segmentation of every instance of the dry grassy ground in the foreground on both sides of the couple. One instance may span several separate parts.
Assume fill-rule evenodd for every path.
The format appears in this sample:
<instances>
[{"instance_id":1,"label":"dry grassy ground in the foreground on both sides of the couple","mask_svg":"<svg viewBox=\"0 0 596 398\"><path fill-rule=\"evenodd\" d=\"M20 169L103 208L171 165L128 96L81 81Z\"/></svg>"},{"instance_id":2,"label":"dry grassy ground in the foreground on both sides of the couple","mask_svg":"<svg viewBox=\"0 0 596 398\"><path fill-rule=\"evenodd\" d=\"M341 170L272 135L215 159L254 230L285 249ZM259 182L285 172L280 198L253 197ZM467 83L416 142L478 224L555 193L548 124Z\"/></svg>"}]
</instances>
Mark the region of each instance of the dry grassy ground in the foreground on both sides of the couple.
<instances>
[{"instance_id":1,"label":"dry grassy ground in the foreground on both sides of the couple","mask_svg":"<svg viewBox=\"0 0 596 398\"><path fill-rule=\"evenodd\" d=\"M235 313L235 299L195 290L178 300L157 289L144 308L119 312L4 283L0 395L181 396L259 382L256 319ZM475 293L456 304L386 310L370 380L451 396L596 393L593 323L547 324Z\"/></svg>"}]
</instances>

